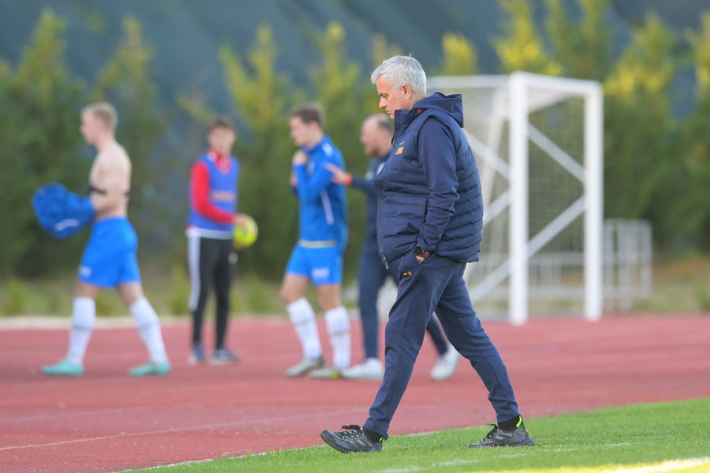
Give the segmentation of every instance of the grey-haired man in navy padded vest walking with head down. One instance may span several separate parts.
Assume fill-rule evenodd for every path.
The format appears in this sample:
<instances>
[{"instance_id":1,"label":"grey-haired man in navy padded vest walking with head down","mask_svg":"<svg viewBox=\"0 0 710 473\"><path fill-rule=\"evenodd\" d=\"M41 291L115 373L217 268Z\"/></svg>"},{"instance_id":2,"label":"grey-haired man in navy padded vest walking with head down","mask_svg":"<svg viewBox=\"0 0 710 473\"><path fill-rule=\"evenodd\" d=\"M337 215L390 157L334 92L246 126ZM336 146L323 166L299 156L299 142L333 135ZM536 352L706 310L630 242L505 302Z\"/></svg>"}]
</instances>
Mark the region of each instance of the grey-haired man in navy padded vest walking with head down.
<instances>
[{"instance_id":1,"label":"grey-haired man in navy padded vest walking with head down","mask_svg":"<svg viewBox=\"0 0 710 473\"><path fill-rule=\"evenodd\" d=\"M433 311L456 350L488 389L498 425L469 447L535 445L518 411L501 355L471 306L464 267L479 260L481 182L461 130L461 96L426 96L426 74L413 57L395 56L372 73L380 107L395 121L393 149L375 179L378 244L400 261L397 300L385 329L385 374L361 428L324 430L340 452L378 452L412 375Z\"/></svg>"}]
</instances>

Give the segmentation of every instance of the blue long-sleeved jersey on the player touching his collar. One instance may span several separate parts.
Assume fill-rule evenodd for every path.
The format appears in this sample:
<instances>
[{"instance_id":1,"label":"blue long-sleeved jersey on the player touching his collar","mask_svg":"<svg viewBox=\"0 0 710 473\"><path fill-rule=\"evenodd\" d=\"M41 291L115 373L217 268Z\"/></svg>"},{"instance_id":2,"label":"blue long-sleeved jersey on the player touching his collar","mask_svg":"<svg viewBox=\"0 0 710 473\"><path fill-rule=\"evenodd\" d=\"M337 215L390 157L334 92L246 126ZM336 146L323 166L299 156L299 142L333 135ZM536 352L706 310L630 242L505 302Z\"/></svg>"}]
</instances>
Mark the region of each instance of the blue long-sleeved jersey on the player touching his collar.
<instances>
[{"instance_id":1,"label":"blue long-sleeved jersey on the player touching his collar","mask_svg":"<svg viewBox=\"0 0 710 473\"><path fill-rule=\"evenodd\" d=\"M325 167L329 162L345 169L343 155L328 136L303 151L309 156L308 162L293 167L297 178L300 243L344 248L348 239L345 187L332 182L333 173Z\"/></svg>"}]
</instances>

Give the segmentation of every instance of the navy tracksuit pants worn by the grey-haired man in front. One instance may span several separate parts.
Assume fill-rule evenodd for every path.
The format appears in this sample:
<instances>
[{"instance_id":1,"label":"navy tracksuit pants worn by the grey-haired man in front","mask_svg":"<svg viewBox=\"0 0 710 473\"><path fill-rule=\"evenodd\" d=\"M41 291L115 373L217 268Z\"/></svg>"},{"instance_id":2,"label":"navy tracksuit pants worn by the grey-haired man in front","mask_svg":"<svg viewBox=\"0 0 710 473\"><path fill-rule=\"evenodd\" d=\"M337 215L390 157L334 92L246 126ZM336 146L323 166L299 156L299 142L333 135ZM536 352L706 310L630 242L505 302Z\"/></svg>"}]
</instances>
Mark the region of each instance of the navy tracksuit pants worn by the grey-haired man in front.
<instances>
[{"instance_id":1,"label":"navy tracksuit pants worn by the grey-haired man in front","mask_svg":"<svg viewBox=\"0 0 710 473\"><path fill-rule=\"evenodd\" d=\"M484 382L497 421L519 415L506 365L471 306L463 277L465 266L436 254L420 264L411 251L401 259L397 300L385 328L385 376L364 424L385 439L433 311L449 342L471 362Z\"/></svg>"}]
</instances>

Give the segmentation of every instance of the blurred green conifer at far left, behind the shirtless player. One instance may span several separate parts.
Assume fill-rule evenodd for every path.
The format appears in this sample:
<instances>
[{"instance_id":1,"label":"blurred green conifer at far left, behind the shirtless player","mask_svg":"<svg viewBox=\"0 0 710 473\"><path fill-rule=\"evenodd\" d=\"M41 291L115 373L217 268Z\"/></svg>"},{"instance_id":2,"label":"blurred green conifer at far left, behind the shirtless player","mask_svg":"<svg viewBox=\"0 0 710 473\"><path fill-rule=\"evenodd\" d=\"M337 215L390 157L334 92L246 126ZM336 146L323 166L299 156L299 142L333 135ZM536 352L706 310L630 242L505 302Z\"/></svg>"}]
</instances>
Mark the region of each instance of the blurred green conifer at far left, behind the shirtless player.
<instances>
[{"instance_id":1,"label":"blurred green conifer at far left, behind the shirtless player","mask_svg":"<svg viewBox=\"0 0 710 473\"><path fill-rule=\"evenodd\" d=\"M80 238L58 242L35 222L30 199L40 185L86 187L89 162L77 153L82 83L64 64L66 23L50 10L40 15L15 67L0 67L0 274L47 274L76 264ZM61 250L58 248L61 245Z\"/></svg>"}]
</instances>

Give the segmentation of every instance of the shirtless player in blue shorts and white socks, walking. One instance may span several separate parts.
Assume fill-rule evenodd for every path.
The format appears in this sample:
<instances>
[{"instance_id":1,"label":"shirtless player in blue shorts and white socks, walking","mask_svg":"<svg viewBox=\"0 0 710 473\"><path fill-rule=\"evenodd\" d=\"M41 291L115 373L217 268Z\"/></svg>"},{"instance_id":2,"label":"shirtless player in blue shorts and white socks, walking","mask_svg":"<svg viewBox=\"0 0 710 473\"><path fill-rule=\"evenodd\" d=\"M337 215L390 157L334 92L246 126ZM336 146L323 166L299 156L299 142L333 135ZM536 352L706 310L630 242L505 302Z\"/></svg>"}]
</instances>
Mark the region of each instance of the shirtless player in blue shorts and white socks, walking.
<instances>
[{"instance_id":1,"label":"shirtless player in blue shorts and white socks, walking","mask_svg":"<svg viewBox=\"0 0 710 473\"><path fill-rule=\"evenodd\" d=\"M89 172L96 216L79 268L67 355L55 365L42 367L42 372L53 376L80 376L84 372L84 352L96 318L94 299L102 288L116 288L136 321L149 355L148 362L129 369L129 374L168 374L170 362L160 322L143 295L136 260L138 239L127 218L131 160L114 137L118 124L116 109L103 102L91 104L84 107L81 118L84 140L99 151Z\"/></svg>"}]
</instances>

